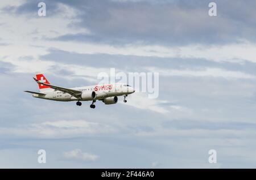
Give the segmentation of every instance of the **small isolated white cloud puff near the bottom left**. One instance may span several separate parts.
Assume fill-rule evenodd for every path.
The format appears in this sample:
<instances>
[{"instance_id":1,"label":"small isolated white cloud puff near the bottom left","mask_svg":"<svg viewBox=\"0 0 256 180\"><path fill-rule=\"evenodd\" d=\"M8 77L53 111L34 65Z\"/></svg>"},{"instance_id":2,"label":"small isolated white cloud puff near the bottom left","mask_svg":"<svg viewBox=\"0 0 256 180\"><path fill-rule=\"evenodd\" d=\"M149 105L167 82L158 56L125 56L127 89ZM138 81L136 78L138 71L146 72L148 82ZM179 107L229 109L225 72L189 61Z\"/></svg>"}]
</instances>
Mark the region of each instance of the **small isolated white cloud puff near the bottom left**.
<instances>
[{"instance_id":1,"label":"small isolated white cloud puff near the bottom left","mask_svg":"<svg viewBox=\"0 0 256 180\"><path fill-rule=\"evenodd\" d=\"M64 158L68 160L96 161L100 158L97 155L82 152L81 149L73 149L72 151L64 152Z\"/></svg>"}]
</instances>

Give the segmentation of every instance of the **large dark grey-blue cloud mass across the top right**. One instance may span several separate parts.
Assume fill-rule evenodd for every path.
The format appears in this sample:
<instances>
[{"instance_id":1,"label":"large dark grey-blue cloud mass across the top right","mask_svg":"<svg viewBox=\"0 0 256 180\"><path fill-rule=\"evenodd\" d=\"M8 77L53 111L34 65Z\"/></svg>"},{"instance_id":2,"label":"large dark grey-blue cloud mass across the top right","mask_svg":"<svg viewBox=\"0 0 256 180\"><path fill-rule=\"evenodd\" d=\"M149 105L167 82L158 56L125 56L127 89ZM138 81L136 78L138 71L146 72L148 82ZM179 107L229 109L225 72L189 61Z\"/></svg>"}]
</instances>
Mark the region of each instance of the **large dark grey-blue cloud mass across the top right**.
<instances>
[{"instance_id":1,"label":"large dark grey-blue cloud mass across the top right","mask_svg":"<svg viewBox=\"0 0 256 180\"><path fill-rule=\"evenodd\" d=\"M45 1L49 14L59 10ZM65 35L57 40L103 42L113 45L225 44L242 39L255 42L255 1L214 1L218 16L208 15L208 1L61 1L81 14L74 23L88 28L91 35ZM17 13L37 12L34 1L16 9ZM55 39L56 40L56 39Z\"/></svg>"}]
</instances>

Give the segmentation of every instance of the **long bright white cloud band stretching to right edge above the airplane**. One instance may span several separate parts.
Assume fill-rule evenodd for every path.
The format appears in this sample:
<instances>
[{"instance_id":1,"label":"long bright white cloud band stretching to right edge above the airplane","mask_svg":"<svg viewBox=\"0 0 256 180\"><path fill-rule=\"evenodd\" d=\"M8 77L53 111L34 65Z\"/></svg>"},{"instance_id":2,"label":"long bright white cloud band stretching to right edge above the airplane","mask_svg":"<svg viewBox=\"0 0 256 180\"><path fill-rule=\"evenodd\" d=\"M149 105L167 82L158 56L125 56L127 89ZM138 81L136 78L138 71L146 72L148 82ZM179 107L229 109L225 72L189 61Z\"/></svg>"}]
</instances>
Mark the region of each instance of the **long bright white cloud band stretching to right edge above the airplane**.
<instances>
[{"instance_id":1,"label":"long bright white cloud band stretching to right edge above the airplane","mask_svg":"<svg viewBox=\"0 0 256 180\"><path fill-rule=\"evenodd\" d=\"M75 52L80 54L102 53L138 55L143 57L200 58L216 62L256 62L256 45L249 42L219 46L192 44L176 47L168 47L162 45L143 45L140 43L123 46L112 46L106 44L92 44L88 42L75 41L40 41L39 43L49 48L56 48L67 52ZM40 44L36 45L40 46Z\"/></svg>"}]
</instances>

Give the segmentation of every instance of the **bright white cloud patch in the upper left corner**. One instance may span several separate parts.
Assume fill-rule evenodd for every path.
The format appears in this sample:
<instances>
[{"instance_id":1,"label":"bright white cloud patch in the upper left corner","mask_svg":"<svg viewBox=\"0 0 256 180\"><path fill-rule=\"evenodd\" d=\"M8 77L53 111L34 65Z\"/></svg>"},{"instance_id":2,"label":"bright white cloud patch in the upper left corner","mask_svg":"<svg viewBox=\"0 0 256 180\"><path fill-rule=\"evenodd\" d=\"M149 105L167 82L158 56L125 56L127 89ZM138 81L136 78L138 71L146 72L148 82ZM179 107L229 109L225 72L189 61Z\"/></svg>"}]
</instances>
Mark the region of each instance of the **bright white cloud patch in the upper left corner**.
<instances>
[{"instance_id":1,"label":"bright white cloud patch in the upper left corner","mask_svg":"<svg viewBox=\"0 0 256 180\"><path fill-rule=\"evenodd\" d=\"M38 7L35 6L35 12ZM39 17L37 14L1 14L0 24L1 38L3 42L17 44L35 45L47 38L55 38L67 34L90 32L86 28L75 27L72 24L79 23L76 16L79 11L71 6L57 3L57 13L51 16ZM38 41L39 40L39 41ZM40 44L38 44L41 46Z\"/></svg>"}]
</instances>

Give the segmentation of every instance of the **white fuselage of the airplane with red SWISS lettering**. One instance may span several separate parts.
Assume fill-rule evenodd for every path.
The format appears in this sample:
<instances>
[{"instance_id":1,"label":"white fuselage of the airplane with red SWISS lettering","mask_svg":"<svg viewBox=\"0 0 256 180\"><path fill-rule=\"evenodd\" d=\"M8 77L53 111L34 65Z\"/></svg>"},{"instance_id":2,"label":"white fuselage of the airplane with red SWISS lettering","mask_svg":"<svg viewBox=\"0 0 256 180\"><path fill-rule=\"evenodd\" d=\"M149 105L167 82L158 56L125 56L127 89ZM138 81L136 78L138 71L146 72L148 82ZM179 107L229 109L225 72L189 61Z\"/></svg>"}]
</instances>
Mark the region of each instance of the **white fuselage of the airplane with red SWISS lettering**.
<instances>
[{"instance_id":1,"label":"white fuselage of the airplane with red SWISS lettering","mask_svg":"<svg viewBox=\"0 0 256 180\"><path fill-rule=\"evenodd\" d=\"M63 91L57 91L53 89L49 89L49 91L43 92L46 95L36 95L33 94L33 97L44 98L47 100L54 101L90 101L90 100L102 100L106 97L113 96L125 96L134 92L134 88L126 85L126 84L106 84L106 85L94 85L94 86L84 86L84 87L76 87L70 88L73 90L81 91L82 96L72 96L69 93L65 93ZM91 99L90 96L92 93L96 93L96 97Z\"/></svg>"}]
</instances>

